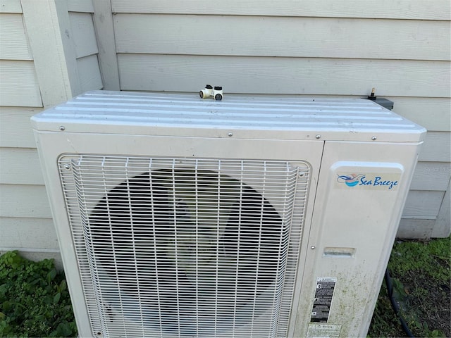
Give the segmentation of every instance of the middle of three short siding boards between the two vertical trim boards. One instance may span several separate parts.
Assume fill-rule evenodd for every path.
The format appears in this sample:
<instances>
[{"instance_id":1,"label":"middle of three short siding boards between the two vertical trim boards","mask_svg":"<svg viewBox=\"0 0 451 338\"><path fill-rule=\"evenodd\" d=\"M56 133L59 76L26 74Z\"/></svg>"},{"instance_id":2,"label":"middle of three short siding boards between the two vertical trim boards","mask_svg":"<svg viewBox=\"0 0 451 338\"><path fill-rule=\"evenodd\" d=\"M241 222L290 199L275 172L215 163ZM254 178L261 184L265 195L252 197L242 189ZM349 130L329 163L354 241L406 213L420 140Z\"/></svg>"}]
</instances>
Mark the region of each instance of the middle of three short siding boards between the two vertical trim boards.
<instances>
[{"instance_id":1,"label":"middle of three short siding boards between the two vertical trim boards","mask_svg":"<svg viewBox=\"0 0 451 338\"><path fill-rule=\"evenodd\" d=\"M77 58L99 53L91 13L69 13Z\"/></svg>"}]
</instances>

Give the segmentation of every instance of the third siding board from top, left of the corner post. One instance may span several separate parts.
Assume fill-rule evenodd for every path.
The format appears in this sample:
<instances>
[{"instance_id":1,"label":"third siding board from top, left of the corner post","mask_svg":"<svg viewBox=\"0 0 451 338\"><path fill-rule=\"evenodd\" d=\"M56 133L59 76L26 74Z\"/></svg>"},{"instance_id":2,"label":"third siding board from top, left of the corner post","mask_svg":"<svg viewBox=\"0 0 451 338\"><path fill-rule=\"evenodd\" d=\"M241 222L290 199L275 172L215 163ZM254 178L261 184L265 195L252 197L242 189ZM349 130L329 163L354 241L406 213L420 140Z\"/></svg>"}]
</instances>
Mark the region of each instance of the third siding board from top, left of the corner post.
<instances>
[{"instance_id":1,"label":"third siding board from top, left of the corner post","mask_svg":"<svg viewBox=\"0 0 451 338\"><path fill-rule=\"evenodd\" d=\"M33 61L0 60L0 106L42 106Z\"/></svg>"}]
</instances>

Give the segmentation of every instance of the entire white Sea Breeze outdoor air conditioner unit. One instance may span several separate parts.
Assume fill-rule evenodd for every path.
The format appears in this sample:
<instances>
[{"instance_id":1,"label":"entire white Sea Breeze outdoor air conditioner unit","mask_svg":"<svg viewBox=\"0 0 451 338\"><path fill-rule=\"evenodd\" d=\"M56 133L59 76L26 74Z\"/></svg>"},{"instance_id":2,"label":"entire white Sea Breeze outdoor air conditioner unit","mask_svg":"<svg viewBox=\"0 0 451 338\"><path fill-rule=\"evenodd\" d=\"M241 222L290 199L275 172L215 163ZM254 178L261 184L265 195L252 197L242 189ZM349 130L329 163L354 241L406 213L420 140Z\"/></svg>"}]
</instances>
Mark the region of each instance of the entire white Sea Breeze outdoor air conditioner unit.
<instances>
[{"instance_id":1,"label":"entire white Sea Breeze outdoor air conditioner unit","mask_svg":"<svg viewBox=\"0 0 451 338\"><path fill-rule=\"evenodd\" d=\"M362 337L426 130L363 99L32 118L80 337Z\"/></svg>"}]
</instances>

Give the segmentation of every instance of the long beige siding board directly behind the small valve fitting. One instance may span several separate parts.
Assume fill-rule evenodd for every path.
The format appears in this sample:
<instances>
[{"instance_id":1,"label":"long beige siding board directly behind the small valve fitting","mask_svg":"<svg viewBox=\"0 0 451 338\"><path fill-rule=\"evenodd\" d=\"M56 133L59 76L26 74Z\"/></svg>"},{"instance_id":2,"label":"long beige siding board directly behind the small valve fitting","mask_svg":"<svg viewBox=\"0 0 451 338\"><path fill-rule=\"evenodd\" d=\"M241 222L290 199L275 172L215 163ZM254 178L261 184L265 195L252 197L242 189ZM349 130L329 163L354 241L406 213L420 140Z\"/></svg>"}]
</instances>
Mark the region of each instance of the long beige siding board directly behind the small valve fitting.
<instances>
[{"instance_id":1,"label":"long beige siding board directly behind the small valve fitting","mask_svg":"<svg viewBox=\"0 0 451 338\"><path fill-rule=\"evenodd\" d=\"M447 61L118 54L121 89L450 97Z\"/></svg>"}]
</instances>

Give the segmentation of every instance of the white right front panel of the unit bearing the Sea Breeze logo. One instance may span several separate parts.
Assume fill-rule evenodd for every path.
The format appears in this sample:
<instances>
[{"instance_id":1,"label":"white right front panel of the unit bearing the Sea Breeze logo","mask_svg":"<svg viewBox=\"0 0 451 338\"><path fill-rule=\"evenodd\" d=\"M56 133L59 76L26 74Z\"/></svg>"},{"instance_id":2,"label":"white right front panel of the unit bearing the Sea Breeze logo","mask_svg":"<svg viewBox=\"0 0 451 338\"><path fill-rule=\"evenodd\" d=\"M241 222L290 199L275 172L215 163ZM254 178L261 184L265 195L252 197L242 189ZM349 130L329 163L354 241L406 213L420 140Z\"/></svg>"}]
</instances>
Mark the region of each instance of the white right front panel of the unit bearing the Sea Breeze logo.
<instances>
[{"instance_id":1,"label":"white right front panel of the unit bearing the Sea Breeze logo","mask_svg":"<svg viewBox=\"0 0 451 338\"><path fill-rule=\"evenodd\" d=\"M418 152L419 144L326 142L290 337L366 334ZM333 290L321 294L323 285Z\"/></svg>"}]
</instances>

